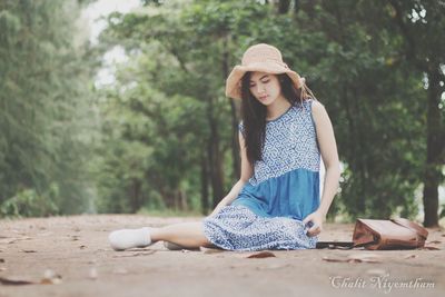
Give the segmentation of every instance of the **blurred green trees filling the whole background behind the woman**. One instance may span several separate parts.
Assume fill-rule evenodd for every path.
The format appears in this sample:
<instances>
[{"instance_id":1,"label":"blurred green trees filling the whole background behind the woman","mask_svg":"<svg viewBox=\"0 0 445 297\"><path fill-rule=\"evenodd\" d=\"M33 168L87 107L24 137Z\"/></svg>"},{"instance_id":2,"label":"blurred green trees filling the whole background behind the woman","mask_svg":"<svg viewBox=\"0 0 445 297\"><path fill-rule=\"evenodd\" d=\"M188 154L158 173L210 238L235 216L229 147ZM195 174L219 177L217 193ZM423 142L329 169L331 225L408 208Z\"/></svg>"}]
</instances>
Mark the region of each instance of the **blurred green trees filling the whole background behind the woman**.
<instances>
[{"instance_id":1,"label":"blurred green trees filling the whole background behind the woman","mask_svg":"<svg viewBox=\"0 0 445 297\"><path fill-rule=\"evenodd\" d=\"M225 80L267 42L333 121L328 219L436 226L444 32L444 0L0 0L0 217L209 214L240 168Z\"/></svg>"}]
</instances>

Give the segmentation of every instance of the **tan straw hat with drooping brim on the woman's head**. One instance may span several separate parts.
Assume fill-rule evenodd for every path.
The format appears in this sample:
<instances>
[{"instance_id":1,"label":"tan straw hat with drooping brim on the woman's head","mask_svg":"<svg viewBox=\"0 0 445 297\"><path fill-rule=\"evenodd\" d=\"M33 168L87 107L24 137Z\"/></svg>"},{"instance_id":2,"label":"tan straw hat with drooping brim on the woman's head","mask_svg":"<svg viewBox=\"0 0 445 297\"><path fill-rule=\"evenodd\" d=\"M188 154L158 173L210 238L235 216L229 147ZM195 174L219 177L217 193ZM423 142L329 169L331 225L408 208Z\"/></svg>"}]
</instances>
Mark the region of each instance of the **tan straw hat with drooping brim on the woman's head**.
<instances>
[{"instance_id":1,"label":"tan straw hat with drooping brim on the woman's head","mask_svg":"<svg viewBox=\"0 0 445 297\"><path fill-rule=\"evenodd\" d=\"M296 89L301 88L304 80L283 62L281 52L269 44L258 43L248 48L243 55L241 65L231 70L226 81L226 96L241 99L241 78L247 71L260 71L273 75L286 73Z\"/></svg>"}]
</instances>

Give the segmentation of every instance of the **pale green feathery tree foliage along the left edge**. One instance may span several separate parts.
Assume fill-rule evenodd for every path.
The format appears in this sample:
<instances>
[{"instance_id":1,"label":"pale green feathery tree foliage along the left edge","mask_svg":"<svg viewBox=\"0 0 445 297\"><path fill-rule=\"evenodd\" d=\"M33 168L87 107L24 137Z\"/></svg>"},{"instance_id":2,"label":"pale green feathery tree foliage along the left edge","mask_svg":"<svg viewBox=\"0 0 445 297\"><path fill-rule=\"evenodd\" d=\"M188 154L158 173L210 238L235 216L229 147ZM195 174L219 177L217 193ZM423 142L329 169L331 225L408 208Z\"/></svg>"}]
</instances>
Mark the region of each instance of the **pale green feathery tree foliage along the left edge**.
<instances>
[{"instance_id":1,"label":"pale green feathery tree foliage along the left edge","mask_svg":"<svg viewBox=\"0 0 445 297\"><path fill-rule=\"evenodd\" d=\"M20 205L21 215L52 185L60 211L88 204L95 65L75 40L79 12L75 0L0 3L0 204Z\"/></svg>"}]
</instances>

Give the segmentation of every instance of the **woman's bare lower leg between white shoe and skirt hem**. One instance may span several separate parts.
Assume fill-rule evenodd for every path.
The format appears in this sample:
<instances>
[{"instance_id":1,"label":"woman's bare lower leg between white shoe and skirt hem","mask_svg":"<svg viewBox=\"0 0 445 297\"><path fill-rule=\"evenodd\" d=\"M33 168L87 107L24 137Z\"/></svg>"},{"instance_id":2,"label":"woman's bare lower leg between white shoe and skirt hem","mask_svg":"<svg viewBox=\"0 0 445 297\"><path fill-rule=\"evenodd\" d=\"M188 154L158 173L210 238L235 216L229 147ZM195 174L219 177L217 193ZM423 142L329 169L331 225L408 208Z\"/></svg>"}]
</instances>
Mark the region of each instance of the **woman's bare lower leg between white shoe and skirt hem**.
<instances>
[{"instance_id":1,"label":"woman's bare lower leg between white shoe and skirt hem","mask_svg":"<svg viewBox=\"0 0 445 297\"><path fill-rule=\"evenodd\" d=\"M180 222L160 228L150 228L150 237L151 241L165 240L187 248L211 245L204 235L202 221Z\"/></svg>"}]
</instances>

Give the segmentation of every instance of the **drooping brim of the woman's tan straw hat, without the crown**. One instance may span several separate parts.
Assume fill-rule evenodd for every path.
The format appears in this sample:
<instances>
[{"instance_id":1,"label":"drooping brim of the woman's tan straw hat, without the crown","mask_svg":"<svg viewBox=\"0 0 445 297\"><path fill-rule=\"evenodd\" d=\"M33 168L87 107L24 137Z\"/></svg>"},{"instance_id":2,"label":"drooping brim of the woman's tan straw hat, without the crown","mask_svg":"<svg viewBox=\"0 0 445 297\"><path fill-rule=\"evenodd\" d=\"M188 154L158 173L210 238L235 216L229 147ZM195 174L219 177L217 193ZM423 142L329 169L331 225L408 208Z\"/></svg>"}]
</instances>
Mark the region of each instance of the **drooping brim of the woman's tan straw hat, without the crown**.
<instances>
[{"instance_id":1,"label":"drooping brim of the woman's tan straw hat, without the crown","mask_svg":"<svg viewBox=\"0 0 445 297\"><path fill-rule=\"evenodd\" d=\"M234 99L241 99L241 78L248 71L258 71L273 75L286 73L296 89L301 88L300 77L297 72L274 62L258 62L248 66L235 66L226 80L226 96Z\"/></svg>"}]
</instances>

